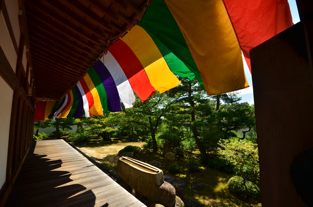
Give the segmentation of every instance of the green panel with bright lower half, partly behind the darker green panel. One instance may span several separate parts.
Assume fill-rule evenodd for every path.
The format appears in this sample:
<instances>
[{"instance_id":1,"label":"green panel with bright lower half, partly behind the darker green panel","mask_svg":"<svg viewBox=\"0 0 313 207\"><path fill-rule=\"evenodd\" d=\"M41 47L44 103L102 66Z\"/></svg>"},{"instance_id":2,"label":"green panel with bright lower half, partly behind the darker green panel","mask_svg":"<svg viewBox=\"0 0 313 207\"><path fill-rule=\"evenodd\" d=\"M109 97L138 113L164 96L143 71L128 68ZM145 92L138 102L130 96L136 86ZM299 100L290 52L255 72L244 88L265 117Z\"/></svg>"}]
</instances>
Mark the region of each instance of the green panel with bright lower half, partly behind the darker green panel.
<instances>
[{"instance_id":1,"label":"green panel with bright lower half, partly behind the darker green panel","mask_svg":"<svg viewBox=\"0 0 313 207\"><path fill-rule=\"evenodd\" d=\"M186 78L189 80L195 78L195 74L192 73L186 67L186 65L179 58L177 58L163 43L161 43L161 41L158 38L156 38L156 36L154 36L149 30L146 32L150 35L153 42L159 48L168 67L175 75L178 75L182 78Z\"/></svg>"}]
</instances>

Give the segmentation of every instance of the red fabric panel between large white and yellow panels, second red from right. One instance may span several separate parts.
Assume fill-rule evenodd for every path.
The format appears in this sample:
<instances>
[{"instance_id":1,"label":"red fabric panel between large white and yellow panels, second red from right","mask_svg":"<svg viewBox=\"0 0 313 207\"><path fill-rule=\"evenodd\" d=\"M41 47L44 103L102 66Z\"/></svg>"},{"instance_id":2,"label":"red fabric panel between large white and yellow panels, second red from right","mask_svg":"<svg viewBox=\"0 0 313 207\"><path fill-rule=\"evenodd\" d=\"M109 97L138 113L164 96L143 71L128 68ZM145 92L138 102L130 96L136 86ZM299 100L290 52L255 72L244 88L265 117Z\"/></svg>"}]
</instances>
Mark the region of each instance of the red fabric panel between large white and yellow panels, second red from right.
<instances>
[{"instance_id":1,"label":"red fabric panel between large white and yellow panels, second red from right","mask_svg":"<svg viewBox=\"0 0 313 207\"><path fill-rule=\"evenodd\" d=\"M109 48L109 51L120 64L131 84L131 88L142 102L156 92L156 89L149 81L145 69L126 43L119 40Z\"/></svg>"}]
</instances>

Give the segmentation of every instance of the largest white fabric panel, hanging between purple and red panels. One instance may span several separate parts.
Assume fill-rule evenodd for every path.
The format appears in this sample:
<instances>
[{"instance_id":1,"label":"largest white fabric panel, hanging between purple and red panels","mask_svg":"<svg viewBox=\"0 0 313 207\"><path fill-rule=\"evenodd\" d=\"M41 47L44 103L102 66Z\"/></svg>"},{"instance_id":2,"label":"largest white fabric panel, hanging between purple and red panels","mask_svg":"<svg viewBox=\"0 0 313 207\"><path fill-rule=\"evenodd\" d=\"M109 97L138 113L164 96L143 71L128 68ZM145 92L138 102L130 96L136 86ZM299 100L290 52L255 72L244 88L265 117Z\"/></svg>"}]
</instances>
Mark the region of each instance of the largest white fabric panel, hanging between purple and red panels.
<instances>
[{"instance_id":1,"label":"largest white fabric panel, hanging between purple and red panels","mask_svg":"<svg viewBox=\"0 0 313 207\"><path fill-rule=\"evenodd\" d=\"M115 60L110 51L100 60L111 73L125 108L132 108L135 105L135 95L120 64Z\"/></svg>"}]
</instances>

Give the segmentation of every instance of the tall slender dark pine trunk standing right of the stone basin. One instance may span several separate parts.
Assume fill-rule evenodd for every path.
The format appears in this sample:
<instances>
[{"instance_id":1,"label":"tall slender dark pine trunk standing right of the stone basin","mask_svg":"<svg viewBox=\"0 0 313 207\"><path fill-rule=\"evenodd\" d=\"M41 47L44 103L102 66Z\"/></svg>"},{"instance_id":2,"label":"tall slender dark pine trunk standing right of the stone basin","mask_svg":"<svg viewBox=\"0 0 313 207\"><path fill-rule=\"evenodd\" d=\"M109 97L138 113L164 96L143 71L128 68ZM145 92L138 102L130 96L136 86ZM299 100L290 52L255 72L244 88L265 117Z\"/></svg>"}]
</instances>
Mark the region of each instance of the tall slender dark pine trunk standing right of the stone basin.
<instances>
[{"instance_id":1,"label":"tall slender dark pine trunk standing right of the stone basin","mask_svg":"<svg viewBox=\"0 0 313 207\"><path fill-rule=\"evenodd\" d=\"M207 151L205 150L203 144L201 143L199 137L198 137L198 130L197 127L193 125L193 123L196 121L196 116L195 116L195 111L194 111L194 107L195 107L195 103L192 101L192 97L191 97L191 81L189 82L189 92L188 92L188 98L189 98L189 104L191 106L191 130L193 133L193 138L196 141L196 144L198 146L198 149L200 150L200 154L201 154L201 162L203 164L208 164L208 154Z\"/></svg>"}]
</instances>

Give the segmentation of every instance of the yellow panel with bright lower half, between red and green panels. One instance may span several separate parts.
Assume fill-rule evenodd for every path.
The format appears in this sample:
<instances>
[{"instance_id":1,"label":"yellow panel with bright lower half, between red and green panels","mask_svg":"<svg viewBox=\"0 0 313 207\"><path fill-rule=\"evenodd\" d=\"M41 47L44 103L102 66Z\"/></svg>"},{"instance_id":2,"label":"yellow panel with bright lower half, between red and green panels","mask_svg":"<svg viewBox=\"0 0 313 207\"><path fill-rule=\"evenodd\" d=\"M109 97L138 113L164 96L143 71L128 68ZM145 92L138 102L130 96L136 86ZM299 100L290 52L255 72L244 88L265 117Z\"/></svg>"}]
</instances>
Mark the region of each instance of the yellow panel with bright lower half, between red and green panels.
<instances>
[{"instance_id":1,"label":"yellow panel with bright lower half, between red and green panels","mask_svg":"<svg viewBox=\"0 0 313 207\"><path fill-rule=\"evenodd\" d=\"M168 67L150 35L143 28L136 25L122 40L135 53L145 69L151 85L160 93L181 83Z\"/></svg>"}]
</instances>

